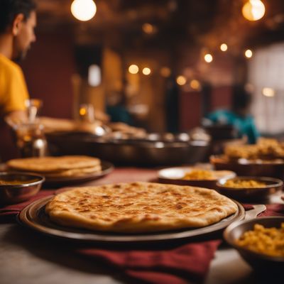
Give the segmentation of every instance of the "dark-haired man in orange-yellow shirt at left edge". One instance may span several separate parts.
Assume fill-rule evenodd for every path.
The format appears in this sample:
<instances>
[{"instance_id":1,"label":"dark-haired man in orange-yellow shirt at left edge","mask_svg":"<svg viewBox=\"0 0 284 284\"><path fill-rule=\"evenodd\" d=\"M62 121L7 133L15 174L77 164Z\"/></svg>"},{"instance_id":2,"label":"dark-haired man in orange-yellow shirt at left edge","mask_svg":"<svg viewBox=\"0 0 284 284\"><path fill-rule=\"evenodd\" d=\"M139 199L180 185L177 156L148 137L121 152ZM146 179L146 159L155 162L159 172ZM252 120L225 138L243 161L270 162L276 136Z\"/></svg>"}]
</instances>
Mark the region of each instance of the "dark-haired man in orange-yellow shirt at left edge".
<instances>
[{"instance_id":1,"label":"dark-haired man in orange-yellow shirt at left edge","mask_svg":"<svg viewBox=\"0 0 284 284\"><path fill-rule=\"evenodd\" d=\"M25 57L35 41L35 26L33 0L0 1L0 160L6 160L8 147L11 147L11 141L10 145L3 142L4 136L7 136L4 119L27 119L25 101L28 89L21 67L16 62Z\"/></svg>"}]
</instances>

